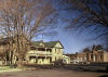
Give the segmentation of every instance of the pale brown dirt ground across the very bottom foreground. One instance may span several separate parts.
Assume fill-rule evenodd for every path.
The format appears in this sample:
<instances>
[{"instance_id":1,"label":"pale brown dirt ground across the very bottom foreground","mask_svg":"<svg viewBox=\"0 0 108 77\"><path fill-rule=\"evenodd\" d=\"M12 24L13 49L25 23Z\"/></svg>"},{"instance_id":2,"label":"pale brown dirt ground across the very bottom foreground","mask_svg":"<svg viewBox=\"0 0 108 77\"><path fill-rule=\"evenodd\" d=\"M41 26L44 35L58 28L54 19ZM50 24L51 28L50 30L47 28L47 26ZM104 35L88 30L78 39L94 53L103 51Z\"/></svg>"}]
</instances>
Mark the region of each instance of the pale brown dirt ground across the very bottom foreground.
<instances>
[{"instance_id":1,"label":"pale brown dirt ground across the very bottom foreground","mask_svg":"<svg viewBox=\"0 0 108 77\"><path fill-rule=\"evenodd\" d=\"M92 72L75 72L68 69L37 69L1 73L0 77L108 77L108 74Z\"/></svg>"}]
</instances>

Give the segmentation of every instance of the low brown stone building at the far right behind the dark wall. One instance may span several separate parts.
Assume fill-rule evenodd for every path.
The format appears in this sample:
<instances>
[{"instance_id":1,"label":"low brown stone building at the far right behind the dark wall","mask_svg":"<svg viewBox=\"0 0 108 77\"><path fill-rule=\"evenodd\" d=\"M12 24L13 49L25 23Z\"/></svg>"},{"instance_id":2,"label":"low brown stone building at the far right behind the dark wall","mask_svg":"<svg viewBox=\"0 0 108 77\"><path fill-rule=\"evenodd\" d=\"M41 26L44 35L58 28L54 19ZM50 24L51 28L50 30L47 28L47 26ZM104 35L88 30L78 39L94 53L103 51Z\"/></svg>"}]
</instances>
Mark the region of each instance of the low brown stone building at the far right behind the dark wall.
<instances>
[{"instance_id":1,"label":"low brown stone building at the far right behind the dark wall","mask_svg":"<svg viewBox=\"0 0 108 77\"><path fill-rule=\"evenodd\" d=\"M93 50L90 52L77 52L76 54L66 54L70 56L70 62L78 63L106 63L108 62L108 52L104 50Z\"/></svg>"}]
</instances>

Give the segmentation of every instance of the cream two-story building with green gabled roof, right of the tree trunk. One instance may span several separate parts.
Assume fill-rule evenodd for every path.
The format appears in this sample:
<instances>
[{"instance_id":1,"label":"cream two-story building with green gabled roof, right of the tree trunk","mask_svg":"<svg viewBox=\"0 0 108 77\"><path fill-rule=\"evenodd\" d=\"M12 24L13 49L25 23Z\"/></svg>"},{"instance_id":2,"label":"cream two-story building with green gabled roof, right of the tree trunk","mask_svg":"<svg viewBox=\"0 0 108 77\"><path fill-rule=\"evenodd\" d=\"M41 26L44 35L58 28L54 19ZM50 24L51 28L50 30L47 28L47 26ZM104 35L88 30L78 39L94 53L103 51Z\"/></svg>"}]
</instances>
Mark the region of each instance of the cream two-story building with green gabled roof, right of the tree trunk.
<instances>
[{"instance_id":1,"label":"cream two-story building with green gabled roof, right of the tree trunk","mask_svg":"<svg viewBox=\"0 0 108 77\"><path fill-rule=\"evenodd\" d=\"M27 64L52 64L63 60L63 44L60 41L33 41L26 54Z\"/></svg>"}]
</instances>

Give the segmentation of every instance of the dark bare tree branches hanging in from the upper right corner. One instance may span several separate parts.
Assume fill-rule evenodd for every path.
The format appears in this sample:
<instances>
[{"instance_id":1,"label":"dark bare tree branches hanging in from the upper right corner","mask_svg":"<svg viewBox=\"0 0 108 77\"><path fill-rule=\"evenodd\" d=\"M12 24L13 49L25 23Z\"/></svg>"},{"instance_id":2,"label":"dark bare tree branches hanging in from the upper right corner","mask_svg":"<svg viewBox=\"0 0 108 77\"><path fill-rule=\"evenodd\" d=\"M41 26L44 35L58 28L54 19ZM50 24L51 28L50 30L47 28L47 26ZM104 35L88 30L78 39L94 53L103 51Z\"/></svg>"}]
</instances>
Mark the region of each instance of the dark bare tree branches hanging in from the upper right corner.
<instances>
[{"instance_id":1,"label":"dark bare tree branches hanging in from the upper right corner","mask_svg":"<svg viewBox=\"0 0 108 77\"><path fill-rule=\"evenodd\" d=\"M108 35L108 0L59 0L60 3L67 3L60 10L75 10L78 14L75 18L69 20L67 28L89 28L94 26L92 31L99 30L97 38ZM96 25L96 26L95 26ZM104 28L100 30L98 28ZM96 39L97 39L96 38Z\"/></svg>"}]
</instances>

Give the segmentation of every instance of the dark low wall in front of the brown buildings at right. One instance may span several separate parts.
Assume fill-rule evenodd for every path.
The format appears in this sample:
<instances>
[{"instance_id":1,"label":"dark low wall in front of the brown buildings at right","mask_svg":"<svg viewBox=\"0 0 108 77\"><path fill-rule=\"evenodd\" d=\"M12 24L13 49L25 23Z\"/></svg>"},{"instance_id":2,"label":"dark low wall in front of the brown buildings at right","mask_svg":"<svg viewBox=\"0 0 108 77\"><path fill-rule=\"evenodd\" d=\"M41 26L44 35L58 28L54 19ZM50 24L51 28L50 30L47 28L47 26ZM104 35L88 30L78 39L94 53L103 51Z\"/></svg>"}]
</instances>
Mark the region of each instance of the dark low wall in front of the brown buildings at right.
<instances>
[{"instance_id":1,"label":"dark low wall in front of the brown buildings at right","mask_svg":"<svg viewBox=\"0 0 108 77\"><path fill-rule=\"evenodd\" d=\"M108 72L108 63L69 64L64 67L75 70Z\"/></svg>"}]
</instances>

